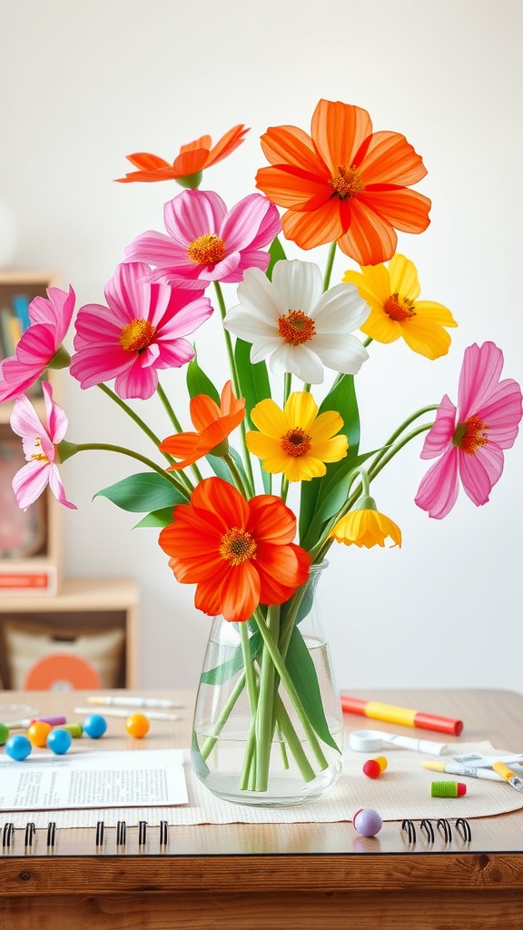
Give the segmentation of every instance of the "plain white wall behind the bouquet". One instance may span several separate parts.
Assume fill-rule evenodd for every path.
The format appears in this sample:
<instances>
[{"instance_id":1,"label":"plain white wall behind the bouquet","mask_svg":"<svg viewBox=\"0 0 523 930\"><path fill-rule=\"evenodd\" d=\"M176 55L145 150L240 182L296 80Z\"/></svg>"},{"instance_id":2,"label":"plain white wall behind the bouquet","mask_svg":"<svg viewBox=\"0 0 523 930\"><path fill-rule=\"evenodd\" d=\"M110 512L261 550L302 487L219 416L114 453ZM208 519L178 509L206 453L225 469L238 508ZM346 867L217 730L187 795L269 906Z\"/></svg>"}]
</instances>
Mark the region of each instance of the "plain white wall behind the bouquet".
<instances>
[{"instance_id":1,"label":"plain white wall behind the bouquet","mask_svg":"<svg viewBox=\"0 0 523 930\"><path fill-rule=\"evenodd\" d=\"M403 343L372 346L359 380L365 445L443 393L456 398L463 349L474 341L496 341L505 375L521 380L522 13L519 0L0 0L0 200L19 225L16 266L56 270L78 305L100 301L124 247L162 229L164 201L180 192L114 184L126 153L173 157L184 141L246 123L246 143L206 178L232 205L254 189L267 126L307 129L320 97L343 100L422 153L429 174L419 189L433 199L432 224L421 236L400 234L399 248L419 268L422 297L446 303L460 323L436 363ZM338 259L333 280L345 267ZM234 291L227 296L233 302ZM221 383L218 323L198 346ZM189 427L182 377L170 389ZM64 393L72 441L141 442L101 392L68 383ZM170 432L159 409L148 417ZM476 509L462 495L444 521L413 503L426 469L420 448L374 485L402 527L402 550L331 551L320 593L339 683L520 690L523 440L508 451L490 503ZM208 633L194 590L172 578L154 531L131 532L131 515L91 503L127 473L126 460L102 454L64 464L79 506L63 514L66 570L136 575L141 684L191 686Z\"/></svg>"}]
</instances>

